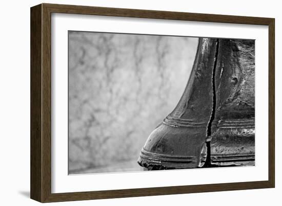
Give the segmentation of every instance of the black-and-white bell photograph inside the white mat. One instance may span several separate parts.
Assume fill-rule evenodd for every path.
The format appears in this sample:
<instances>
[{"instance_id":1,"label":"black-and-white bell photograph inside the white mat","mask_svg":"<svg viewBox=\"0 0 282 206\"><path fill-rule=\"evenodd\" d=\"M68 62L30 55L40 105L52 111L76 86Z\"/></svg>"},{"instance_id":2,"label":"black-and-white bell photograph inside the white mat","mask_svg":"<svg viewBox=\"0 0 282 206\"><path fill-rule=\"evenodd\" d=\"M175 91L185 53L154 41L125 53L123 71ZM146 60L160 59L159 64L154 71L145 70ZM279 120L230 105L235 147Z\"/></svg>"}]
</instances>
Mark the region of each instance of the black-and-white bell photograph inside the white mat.
<instances>
[{"instance_id":1,"label":"black-and-white bell photograph inside the white mat","mask_svg":"<svg viewBox=\"0 0 282 206\"><path fill-rule=\"evenodd\" d=\"M68 31L68 173L255 165L255 40Z\"/></svg>"}]
</instances>

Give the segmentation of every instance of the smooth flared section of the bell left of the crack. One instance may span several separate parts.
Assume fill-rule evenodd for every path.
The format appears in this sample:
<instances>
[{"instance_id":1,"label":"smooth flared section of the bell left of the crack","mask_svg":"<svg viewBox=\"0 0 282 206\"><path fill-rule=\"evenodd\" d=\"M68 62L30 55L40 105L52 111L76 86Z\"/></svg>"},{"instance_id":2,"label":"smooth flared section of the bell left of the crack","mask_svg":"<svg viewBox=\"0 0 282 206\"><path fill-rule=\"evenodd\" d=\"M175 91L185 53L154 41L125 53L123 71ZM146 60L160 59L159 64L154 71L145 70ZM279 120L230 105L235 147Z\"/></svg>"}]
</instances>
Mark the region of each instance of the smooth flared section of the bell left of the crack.
<instances>
[{"instance_id":1,"label":"smooth flared section of the bell left of the crack","mask_svg":"<svg viewBox=\"0 0 282 206\"><path fill-rule=\"evenodd\" d=\"M138 158L140 166L160 170L195 168L205 163L217 50L217 39L199 40L184 94L176 108L150 134Z\"/></svg>"}]
</instances>

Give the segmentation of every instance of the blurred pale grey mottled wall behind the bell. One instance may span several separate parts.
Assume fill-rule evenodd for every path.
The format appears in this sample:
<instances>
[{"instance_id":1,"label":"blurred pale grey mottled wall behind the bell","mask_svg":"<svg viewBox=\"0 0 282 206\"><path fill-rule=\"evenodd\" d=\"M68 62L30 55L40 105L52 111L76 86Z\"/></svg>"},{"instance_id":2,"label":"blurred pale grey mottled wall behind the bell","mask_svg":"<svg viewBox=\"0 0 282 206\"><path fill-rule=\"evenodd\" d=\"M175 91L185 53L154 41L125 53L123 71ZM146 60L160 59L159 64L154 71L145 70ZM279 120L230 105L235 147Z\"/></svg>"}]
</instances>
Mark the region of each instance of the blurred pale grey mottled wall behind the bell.
<instances>
[{"instance_id":1,"label":"blurred pale grey mottled wall behind the bell","mask_svg":"<svg viewBox=\"0 0 282 206\"><path fill-rule=\"evenodd\" d=\"M197 41L69 32L69 173L138 170L148 135L184 91Z\"/></svg>"}]
</instances>

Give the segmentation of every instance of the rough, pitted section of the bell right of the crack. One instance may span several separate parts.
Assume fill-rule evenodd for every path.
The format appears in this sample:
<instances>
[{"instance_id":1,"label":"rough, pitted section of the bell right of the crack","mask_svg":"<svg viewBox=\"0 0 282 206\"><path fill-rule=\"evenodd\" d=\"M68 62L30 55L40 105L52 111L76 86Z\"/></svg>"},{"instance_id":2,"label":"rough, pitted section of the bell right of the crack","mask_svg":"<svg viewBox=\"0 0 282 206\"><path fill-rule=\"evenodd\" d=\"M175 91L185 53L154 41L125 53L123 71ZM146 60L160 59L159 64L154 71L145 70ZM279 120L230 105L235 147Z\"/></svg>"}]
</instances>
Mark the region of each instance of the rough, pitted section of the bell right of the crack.
<instances>
[{"instance_id":1,"label":"rough, pitted section of the bell right of the crack","mask_svg":"<svg viewBox=\"0 0 282 206\"><path fill-rule=\"evenodd\" d=\"M254 165L255 42L219 39L211 164Z\"/></svg>"}]
</instances>

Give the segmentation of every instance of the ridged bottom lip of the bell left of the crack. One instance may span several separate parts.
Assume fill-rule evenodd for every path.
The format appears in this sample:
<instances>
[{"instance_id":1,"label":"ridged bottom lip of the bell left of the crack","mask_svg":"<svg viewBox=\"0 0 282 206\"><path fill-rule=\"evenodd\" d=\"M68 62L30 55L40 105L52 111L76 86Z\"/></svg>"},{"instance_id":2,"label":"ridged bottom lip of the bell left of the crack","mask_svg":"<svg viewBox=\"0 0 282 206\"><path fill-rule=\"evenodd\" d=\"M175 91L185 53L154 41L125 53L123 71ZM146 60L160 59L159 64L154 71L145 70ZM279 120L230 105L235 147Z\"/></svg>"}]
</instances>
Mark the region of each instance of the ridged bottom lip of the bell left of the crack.
<instances>
[{"instance_id":1,"label":"ridged bottom lip of the bell left of the crack","mask_svg":"<svg viewBox=\"0 0 282 206\"><path fill-rule=\"evenodd\" d=\"M144 148L140 151L137 163L145 168L149 168L149 166L162 166L165 169L197 168L198 165L196 156L158 154L146 151Z\"/></svg>"}]
</instances>

